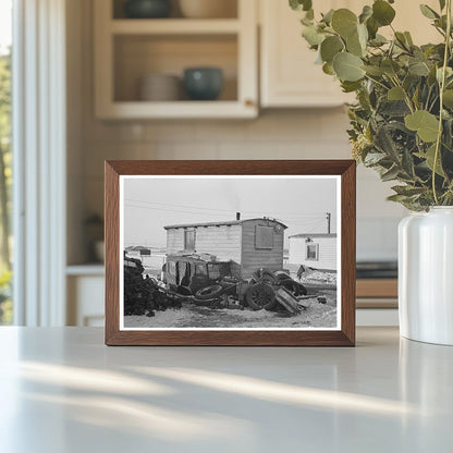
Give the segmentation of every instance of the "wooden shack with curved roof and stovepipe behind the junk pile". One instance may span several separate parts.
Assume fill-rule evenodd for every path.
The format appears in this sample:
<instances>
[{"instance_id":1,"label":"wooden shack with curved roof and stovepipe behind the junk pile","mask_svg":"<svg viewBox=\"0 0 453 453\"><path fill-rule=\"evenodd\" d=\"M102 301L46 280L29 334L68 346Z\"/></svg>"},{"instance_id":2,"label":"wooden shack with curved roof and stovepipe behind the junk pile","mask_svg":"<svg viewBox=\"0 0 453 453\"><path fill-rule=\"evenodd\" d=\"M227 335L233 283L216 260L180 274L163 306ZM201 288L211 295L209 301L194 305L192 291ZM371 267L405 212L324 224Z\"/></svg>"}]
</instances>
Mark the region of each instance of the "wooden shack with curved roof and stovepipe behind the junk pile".
<instances>
[{"instance_id":1,"label":"wooden shack with curved roof and stovepipe behind the junk pile","mask_svg":"<svg viewBox=\"0 0 453 453\"><path fill-rule=\"evenodd\" d=\"M167 254L207 254L231 261L231 272L247 279L260 268L283 268L286 225L274 219L244 219L164 226Z\"/></svg>"}]
</instances>

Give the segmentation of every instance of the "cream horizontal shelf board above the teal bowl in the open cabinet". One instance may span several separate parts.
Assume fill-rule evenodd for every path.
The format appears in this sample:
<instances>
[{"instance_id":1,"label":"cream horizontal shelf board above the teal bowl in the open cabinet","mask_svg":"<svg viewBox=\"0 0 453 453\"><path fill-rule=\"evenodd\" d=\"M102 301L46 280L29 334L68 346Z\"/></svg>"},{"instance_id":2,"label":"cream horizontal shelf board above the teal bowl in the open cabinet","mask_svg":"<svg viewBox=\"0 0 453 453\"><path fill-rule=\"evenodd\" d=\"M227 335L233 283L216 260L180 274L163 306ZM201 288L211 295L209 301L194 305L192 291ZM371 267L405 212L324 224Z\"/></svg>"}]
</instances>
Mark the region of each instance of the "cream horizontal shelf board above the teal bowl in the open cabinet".
<instances>
[{"instance_id":1,"label":"cream horizontal shelf board above the teal bowl in the open cabinet","mask_svg":"<svg viewBox=\"0 0 453 453\"><path fill-rule=\"evenodd\" d=\"M122 19L110 21L113 35L188 35L188 34L236 34L241 22L236 19Z\"/></svg>"}]
</instances>

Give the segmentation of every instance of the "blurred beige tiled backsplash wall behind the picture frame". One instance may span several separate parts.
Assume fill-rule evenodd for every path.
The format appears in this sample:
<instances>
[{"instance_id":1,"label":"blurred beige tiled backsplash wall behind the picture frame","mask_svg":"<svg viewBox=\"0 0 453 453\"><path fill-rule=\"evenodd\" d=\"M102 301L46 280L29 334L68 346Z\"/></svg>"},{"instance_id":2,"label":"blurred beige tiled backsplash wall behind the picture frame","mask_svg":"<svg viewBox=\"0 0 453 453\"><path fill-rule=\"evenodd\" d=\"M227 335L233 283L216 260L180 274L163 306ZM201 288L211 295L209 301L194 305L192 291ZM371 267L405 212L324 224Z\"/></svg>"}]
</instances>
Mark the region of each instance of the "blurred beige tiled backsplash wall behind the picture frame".
<instances>
[{"instance_id":1,"label":"blurred beige tiled backsplash wall behind the picture frame","mask_svg":"<svg viewBox=\"0 0 453 453\"><path fill-rule=\"evenodd\" d=\"M343 109L265 112L254 121L162 121L85 124L85 206L102 211L105 159L341 159L350 158ZM405 210L389 203L391 184L357 172L357 257L396 257L396 224Z\"/></svg>"}]
</instances>

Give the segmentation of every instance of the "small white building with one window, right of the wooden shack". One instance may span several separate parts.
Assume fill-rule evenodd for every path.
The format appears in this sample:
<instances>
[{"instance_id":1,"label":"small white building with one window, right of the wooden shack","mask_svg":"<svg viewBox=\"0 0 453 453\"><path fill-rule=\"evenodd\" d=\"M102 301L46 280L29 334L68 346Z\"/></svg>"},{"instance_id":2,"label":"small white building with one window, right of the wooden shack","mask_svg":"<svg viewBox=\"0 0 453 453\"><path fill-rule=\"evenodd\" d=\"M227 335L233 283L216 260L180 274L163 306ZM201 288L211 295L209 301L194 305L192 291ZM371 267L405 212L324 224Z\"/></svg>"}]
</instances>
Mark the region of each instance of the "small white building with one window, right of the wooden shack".
<instances>
[{"instance_id":1,"label":"small white building with one window, right of the wooden shack","mask_svg":"<svg viewBox=\"0 0 453 453\"><path fill-rule=\"evenodd\" d=\"M290 264L336 271L336 233L294 234L289 238Z\"/></svg>"}]
</instances>

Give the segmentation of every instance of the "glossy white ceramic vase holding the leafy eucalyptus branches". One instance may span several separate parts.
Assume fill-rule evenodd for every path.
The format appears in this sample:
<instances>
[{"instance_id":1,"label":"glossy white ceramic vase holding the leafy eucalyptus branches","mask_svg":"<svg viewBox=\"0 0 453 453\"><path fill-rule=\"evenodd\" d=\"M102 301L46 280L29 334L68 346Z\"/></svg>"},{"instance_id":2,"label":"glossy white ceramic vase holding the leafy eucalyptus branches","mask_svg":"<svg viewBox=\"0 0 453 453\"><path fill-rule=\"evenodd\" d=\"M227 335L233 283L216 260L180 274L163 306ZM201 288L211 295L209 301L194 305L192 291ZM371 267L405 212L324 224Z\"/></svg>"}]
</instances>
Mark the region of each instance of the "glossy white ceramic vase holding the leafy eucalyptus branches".
<instances>
[{"instance_id":1,"label":"glossy white ceramic vase holding the leafy eucalyptus branches","mask_svg":"<svg viewBox=\"0 0 453 453\"><path fill-rule=\"evenodd\" d=\"M400 222L399 307L402 336L453 345L453 207Z\"/></svg>"}]
</instances>

